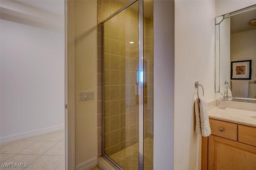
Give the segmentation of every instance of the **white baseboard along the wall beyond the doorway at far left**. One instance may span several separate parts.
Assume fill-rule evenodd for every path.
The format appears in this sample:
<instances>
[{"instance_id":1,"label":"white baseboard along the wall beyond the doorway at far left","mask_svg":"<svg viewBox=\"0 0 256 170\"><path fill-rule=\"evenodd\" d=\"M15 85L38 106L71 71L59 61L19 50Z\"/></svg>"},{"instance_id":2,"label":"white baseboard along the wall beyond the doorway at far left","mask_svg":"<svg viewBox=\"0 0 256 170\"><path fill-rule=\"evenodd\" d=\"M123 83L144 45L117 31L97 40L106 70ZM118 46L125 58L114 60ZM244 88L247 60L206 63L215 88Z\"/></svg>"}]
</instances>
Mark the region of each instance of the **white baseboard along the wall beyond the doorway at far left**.
<instances>
[{"instance_id":1,"label":"white baseboard along the wall beyond the doorway at far left","mask_svg":"<svg viewBox=\"0 0 256 170\"><path fill-rule=\"evenodd\" d=\"M51 132L56 132L58 130L64 130L64 129L65 129L65 125L57 125L57 126L53 126L53 127L41 128L38 130L32 130L32 131L22 132L22 133L18 133L18 134L12 134L9 136L3 136L3 137L0 137L0 144L14 142L16 140L31 138L34 136L51 133Z\"/></svg>"}]
</instances>

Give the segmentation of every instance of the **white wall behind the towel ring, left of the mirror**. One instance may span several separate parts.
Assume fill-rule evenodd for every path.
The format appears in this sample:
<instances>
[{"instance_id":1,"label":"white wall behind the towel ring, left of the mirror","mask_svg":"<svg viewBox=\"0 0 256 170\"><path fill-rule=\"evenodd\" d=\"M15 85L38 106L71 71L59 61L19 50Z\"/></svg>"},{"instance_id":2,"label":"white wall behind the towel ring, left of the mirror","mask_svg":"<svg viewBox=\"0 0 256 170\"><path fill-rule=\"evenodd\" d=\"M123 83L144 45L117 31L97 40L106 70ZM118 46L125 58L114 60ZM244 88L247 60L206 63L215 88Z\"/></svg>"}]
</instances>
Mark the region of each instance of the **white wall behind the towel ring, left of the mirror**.
<instances>
[{"instance_id":1,"label":"white wall behind the towel ring, left of the mirror","mask_svg":"<svg viewBox=\"0 0 256 170\"><path fill-rule=\"evenodd\" d=\"M214 0L175 1L174 170L200 170L195 133L195 81L214 99ZM202 95L202 89L199 89Z\"/></svg>"}]
</instances>

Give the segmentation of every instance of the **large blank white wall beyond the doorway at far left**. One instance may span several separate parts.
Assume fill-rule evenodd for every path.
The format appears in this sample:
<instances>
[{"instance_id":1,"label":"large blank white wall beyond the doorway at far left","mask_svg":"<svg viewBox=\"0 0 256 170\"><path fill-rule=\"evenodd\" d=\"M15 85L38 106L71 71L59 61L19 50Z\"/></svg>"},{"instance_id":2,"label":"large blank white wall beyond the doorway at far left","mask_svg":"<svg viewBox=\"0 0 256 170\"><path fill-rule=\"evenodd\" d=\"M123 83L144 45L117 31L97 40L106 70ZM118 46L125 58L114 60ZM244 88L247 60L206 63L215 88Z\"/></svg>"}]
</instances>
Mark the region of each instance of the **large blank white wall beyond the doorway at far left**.
<instances>
[{"instance_id":1,"label":"large blank white wall beyond the doorway at far left","mask_svg":"<svg viewBox=\"0 0 256 170\"><path fill-rule=\"evenodd\" d=\"M1 13L1 140L64 128L64 1L59 5L63 16L58 24L63 29L46 29L45 23L41 27Z\"/></svg>"}]
</instances>

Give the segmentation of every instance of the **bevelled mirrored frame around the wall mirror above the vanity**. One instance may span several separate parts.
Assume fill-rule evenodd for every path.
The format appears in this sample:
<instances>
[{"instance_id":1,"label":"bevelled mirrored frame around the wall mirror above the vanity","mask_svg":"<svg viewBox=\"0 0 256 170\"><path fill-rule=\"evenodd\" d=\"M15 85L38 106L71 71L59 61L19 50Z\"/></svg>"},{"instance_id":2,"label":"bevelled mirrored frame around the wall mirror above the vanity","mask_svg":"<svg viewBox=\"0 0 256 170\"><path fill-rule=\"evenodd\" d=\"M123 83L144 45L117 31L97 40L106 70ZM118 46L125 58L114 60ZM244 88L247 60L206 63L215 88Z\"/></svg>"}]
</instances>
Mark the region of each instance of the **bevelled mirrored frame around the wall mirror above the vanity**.
<instances>
[{"instance_id":1,"label":"bevelled mirrored frame around the wall mirror above the vanity","mask_svg":"<svg viewBox=\"0 0 256 170\"><path fill-rule=\"evenodd\" d=\"M238 14L242 14L244 12L249 12L252 10L256 10L256 4L252 6L248 6L246 8L242 8L240 10L236 10L234 12L230 12L228 14L224 14L218 17L215 17L215 99L220 99L220 97L224 97L222 93L220 93L220 23L232 16L236 16ZM256 103L256 99L252 98L240 98L240 97L224 97L227 100L231 101L242 101L242 102L250 102Z\"/></svg>"}]
</instances>

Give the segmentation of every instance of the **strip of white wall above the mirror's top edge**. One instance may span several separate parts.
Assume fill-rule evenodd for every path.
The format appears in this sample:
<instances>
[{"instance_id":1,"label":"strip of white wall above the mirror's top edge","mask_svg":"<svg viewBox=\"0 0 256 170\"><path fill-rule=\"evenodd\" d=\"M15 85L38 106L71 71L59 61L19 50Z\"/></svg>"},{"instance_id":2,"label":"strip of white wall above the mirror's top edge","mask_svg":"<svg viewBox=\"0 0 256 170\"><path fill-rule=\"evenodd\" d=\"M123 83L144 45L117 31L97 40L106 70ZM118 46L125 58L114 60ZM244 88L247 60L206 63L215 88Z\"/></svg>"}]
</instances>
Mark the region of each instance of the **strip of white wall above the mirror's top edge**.
<instances>
[{"instance_id":1,"label":"strip of white wall above the mirror's top edge","mask_svg":"<svg viewBox=\"0 0 256 170\"><path fill-rule=\"evenodd\" d=\"M256 4L256 0L216 0L216 14L221 16Z\"/></svg>"}]
</instances>

